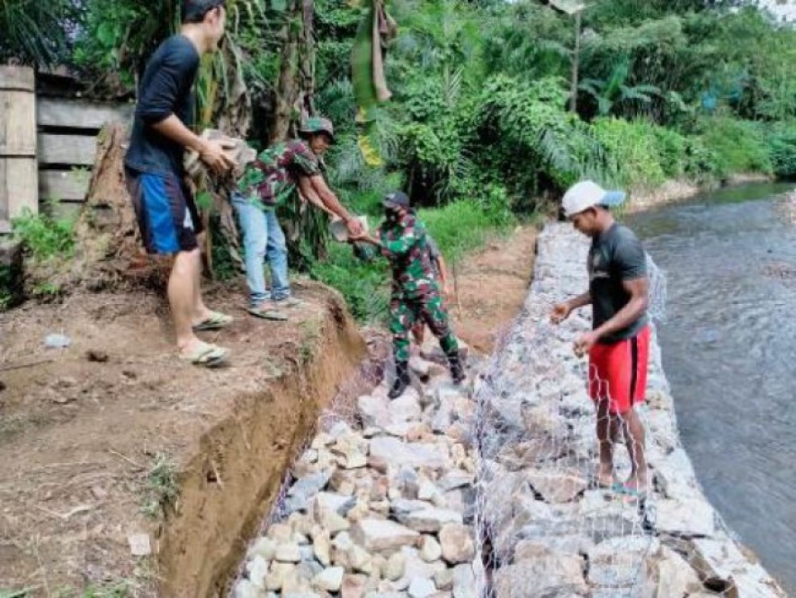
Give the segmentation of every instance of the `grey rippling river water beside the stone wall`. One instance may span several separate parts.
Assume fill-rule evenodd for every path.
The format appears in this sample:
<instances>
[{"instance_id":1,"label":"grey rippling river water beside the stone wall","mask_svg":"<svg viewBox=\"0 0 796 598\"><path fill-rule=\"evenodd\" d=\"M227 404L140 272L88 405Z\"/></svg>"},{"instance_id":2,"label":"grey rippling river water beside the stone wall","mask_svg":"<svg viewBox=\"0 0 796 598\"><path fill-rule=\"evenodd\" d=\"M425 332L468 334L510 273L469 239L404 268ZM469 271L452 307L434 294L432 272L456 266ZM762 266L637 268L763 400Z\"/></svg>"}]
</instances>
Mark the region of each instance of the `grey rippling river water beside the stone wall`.
<instances>
[{"instance_id":1,"label":"grey rippling river water beside the stone wall","mask_svg":"<svg viewBox=\"0 0 796 598\"><path fill-rule=\"evenodd\" d=\"M792 189L736 187L627 223L666 271L664 369L705 494L796 596L796 206L791 222L783 195Z\"/></svg>"}]
</instances>

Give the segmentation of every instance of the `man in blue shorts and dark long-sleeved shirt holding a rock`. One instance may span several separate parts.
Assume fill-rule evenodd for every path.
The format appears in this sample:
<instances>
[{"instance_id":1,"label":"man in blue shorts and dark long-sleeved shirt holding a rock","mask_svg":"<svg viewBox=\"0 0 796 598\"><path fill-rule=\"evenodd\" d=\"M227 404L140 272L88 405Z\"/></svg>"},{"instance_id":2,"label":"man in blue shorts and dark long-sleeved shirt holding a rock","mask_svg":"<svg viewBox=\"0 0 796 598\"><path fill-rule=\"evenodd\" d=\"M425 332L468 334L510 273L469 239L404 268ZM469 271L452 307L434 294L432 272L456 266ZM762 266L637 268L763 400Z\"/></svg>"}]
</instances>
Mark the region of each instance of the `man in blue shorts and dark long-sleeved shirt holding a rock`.
<instances>
[{"instance_id":1,"label":"man in blue shorts and dark long-sleeved shirt holding a rock","mask_svg":"<svg viewBox=\"0 0 796 598\"><path fill-rule=\"evenodd\" d=\"M194 334L228 326L232 318L201 299L201 232L192 193L184 183L185 149L221 173L233 166L218 142L198 137L193 125L193 84L201 55L217 49L227 18L224 0L183 0L180 33L165 40L147 65L124 164L144 245L172 254L168 299L179 355L197 365L225 361L228 351Z\"/></svg>"}]
</instances>

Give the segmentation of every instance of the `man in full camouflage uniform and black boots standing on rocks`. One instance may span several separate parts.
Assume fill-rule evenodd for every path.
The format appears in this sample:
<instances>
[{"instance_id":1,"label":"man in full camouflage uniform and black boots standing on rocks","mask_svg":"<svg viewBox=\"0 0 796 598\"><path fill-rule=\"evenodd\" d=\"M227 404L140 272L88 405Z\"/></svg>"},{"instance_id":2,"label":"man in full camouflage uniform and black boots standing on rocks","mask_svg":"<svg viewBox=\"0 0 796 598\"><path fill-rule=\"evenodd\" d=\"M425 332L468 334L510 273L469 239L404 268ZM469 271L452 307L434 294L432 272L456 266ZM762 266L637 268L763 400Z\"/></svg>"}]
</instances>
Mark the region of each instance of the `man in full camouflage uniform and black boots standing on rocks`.
<instances>
[{"instance_id":1,"label":"man in full camouflage uniform and black boots standing on rocks","mask_svg":"<svg viewBox=\"0 0 796 598\"><path fill-rule=\"evenodd\" d=\"M380 228L380 240L360 237L377 245L392 267L392 298L389 303L389 331L395 354L396 379L390 398L400 397L409 386L409 331L422 319L440 340L451 364L456 384L465 379L459 344L448 321L439 285L434 277L425 224L409 208L403 192L393 192L382 202L386 221Z\"/></svg>"}]
</instances>

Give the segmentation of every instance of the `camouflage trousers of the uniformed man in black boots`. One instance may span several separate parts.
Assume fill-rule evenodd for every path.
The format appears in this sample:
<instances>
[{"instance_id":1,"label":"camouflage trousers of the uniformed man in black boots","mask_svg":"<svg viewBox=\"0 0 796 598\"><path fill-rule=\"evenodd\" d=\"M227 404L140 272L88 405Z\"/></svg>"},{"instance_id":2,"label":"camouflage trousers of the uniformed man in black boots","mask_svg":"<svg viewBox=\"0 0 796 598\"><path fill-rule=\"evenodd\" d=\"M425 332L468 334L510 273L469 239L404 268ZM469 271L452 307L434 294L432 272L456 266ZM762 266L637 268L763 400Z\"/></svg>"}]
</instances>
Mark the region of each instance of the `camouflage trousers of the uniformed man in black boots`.
<instances>
[{"instance_id":1,"label":"camouflage trousers of the uniformed man in black boots","mask_svg":"<svg viewBox=\"0 0 796 598\"><path fill-rule=\"evenodd\" d=\"M393 297L389 302L389 332L396 363L409 361L409 331L418 320L425 321L432 334L440 339L446 355L453 357L459 353L459 343L439 293L420 299Z\"/></svg>"}]
</instances>

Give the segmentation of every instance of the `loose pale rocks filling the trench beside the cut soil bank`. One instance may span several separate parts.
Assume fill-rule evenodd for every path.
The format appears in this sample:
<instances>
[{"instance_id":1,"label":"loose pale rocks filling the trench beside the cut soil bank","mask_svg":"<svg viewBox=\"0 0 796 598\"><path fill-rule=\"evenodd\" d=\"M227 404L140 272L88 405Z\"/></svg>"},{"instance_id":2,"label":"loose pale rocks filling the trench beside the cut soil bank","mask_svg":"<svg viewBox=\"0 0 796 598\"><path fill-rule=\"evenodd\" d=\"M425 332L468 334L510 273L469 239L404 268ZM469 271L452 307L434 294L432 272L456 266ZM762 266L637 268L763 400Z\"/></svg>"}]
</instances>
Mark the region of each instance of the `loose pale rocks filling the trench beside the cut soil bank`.
<instances>
[{"instance_id":1,"label":"loose pale rocks filling the trench beside the cut soil bank","mask_svg":"<svg viewBox=\"0 0 796 598\"><path fill-rule=\"evenodd\" d=\"M301 455L235 598L478 597L475 403L443 368L413 365L425 384L360 397L356 425L331 425Z\"/></svg>"}]
</instances>

